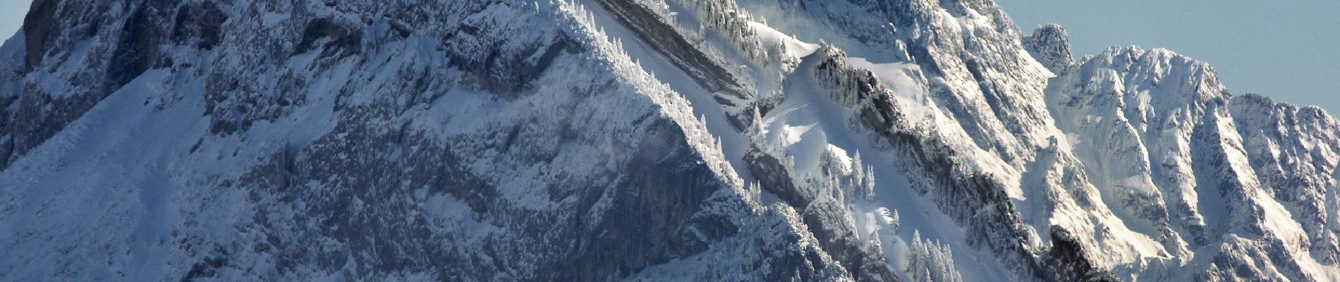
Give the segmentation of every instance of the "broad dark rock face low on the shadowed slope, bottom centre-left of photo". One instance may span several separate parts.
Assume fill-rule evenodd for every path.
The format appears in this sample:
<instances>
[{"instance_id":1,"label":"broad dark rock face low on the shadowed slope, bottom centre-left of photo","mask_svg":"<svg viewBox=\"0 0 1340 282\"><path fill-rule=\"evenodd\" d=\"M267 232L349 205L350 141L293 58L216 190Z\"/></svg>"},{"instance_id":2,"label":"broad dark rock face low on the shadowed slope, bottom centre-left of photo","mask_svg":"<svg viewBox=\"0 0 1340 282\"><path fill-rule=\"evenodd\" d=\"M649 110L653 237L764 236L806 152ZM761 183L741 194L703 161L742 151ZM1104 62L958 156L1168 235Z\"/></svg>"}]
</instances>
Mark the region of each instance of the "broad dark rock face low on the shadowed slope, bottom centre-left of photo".
<instances>
[{"instance_id":1,"label":"broad dark rock face low on the shadowed slope, bottom centre-left of photo","mask_svg":"<svg viewBox=\"0 0 1340 282\"><path fill-rule=\"evenodd\" d=\"M351 118L389 118L381 107L347 111L358 112ZM236 187L251 195L251 204L265 207L243 223L260 233L245 249L267 250L276 259L275 269L264 271L339 271L355 263L355 275L366 278L426 271L442 279L492 281L505 279L509 269L533 267L513 278L604 281L701 253L737 233L732 219L706 215L697 204L724 187L709 170L693 166L695 155L675 146L683 136L665 122L646 124L647 142L632 150L642 154L628 156L616 171L591 175L592 182L583 186L533 187L564 199L556 211L512 202L494 184L503 179L474 175L468 168L472 160L453 148L470 143L460 139L468 136L442 140L373 124L379 123L346 120L327 138L300 150L280 150L239 179ZM528 139L503 150L525 150ZM619 180L598 180L615 176ZM436 196L461 200L469 210L462 219L517 233L466 241L461 237L482 226L444 226L449 222L433 218L434 211L422 204ZM602 199L607 206L596 207ZM289 208L304 213L279 213ZM469 245L478 250L458 251ZM201 263L217 269L210 262L225 258L208 257Z\"/></svg>"}]
</instances>

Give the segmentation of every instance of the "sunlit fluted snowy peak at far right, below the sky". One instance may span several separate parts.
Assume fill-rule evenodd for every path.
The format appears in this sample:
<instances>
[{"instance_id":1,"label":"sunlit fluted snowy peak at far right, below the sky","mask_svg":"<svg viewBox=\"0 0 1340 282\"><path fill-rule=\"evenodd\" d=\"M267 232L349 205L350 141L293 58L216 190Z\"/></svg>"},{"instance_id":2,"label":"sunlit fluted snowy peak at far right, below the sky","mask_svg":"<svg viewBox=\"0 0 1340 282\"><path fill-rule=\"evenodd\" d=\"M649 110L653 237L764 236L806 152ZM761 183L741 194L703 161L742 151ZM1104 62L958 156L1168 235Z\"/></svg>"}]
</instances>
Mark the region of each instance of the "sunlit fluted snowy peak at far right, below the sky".
<instances>
[{"instance_id":1,"label":"sunlit fluted snowy peak at far right, below the sky","mask_svg":"<svg viewBox=\"0 0 1340 282\"><path fill-rule=\"evenodd\" d=\"M1190 247L1179 258L1209 267L1198 279L1340 278L1328 226L1340 127L1321 110L1233 96L1205 63L1134 47L1085 57L1049 92L1104 198Z\"/></svg>"}]
</instances>

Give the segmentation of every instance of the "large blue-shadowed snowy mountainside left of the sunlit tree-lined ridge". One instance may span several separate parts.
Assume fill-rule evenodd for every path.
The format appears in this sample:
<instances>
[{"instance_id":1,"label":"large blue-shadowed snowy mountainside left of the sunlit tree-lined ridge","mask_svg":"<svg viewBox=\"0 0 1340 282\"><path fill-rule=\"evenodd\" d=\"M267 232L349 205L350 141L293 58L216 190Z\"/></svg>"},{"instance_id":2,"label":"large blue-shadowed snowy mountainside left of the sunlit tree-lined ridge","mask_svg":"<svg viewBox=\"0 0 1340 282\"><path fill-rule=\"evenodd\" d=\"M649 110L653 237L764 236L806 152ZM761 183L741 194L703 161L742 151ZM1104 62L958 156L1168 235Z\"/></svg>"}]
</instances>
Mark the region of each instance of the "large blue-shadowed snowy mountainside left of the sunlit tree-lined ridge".
<instances>
[{"instance_id":1,"label":"large blue-shadowed snowy mountainside left of the sunlit tree-lined ridge","mask_svg":"<svg viewBox=\"0 0 1340 282\"><path fill-rule=\"evenodd\" d=\"M0 279L591 281L709 250L756 257L705 277L847 275L575 4L96 3L56 4L109 24L29 49L7 92L16 127L78 118L0 174ZM158 35L142 74L70 95L92 107L47 99L126 23L198 5L218 37Z\"/></svg>"}]
</instances>

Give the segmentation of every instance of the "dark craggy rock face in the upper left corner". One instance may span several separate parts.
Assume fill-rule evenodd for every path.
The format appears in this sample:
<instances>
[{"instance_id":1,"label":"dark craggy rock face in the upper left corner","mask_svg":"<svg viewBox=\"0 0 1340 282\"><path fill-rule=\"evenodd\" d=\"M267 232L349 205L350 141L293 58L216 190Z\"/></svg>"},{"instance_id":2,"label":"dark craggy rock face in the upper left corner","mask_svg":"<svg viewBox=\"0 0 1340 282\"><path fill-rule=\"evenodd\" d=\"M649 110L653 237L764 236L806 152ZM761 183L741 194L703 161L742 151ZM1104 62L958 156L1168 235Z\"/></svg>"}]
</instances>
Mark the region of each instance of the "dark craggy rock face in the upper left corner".
<instances>
[{"instance_id":1,"label":"dark craggy rock face in the upper left corner","mask_svg":"<svg viewBox=\"0 0 1340 282\"><path fill-rule=\"evenodd\" d=\"M121 15L113 17L113 11ZM8 167L145 71L170 67L172 56L159 52L165 45L186 41L198 41L201 47L214 44L218 35L210 29L217 29L225 19L213 3L34 1L23 28L25 76L55 72L67 64L80 67L67 71L68 75L59 75L70 83L67 87L25 83L21 90L25 95L12 102L17 107L0 110L13 120L12 126L0 128L0 135L11 135L11 139L0 140L8 147L0 150L0 168ZM88 40L100 44L84 43ZM87 49L75 49L76 45L87 45Z\"/></svg>"}]
</instances>

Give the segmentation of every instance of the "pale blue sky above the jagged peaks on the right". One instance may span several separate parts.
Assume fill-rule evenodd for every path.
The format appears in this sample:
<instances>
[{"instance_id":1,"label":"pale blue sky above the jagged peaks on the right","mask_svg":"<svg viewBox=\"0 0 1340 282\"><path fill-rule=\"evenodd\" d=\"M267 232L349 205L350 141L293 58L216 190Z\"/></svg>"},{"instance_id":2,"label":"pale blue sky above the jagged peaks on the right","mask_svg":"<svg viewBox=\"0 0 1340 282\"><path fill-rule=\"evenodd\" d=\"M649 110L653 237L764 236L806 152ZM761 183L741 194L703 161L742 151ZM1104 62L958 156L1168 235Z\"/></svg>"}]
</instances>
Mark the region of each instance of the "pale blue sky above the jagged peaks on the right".
<instances>
[{"instance_id":1,"label":"pale blue sky above the jagged peaks on the right","mask_svg":"<svg viewBox=\"0 0 1340 282\"><path fill-rule=\"evenodd\" d=\"M1340 0L996 0L1024 33L1065 27L1076 59L1163 47L1210 63L1233 94L1340 115Z\"/></svg>"}]
</instances>

